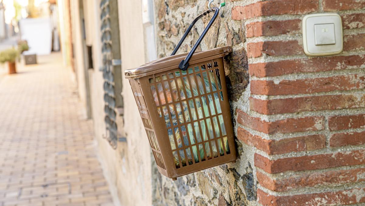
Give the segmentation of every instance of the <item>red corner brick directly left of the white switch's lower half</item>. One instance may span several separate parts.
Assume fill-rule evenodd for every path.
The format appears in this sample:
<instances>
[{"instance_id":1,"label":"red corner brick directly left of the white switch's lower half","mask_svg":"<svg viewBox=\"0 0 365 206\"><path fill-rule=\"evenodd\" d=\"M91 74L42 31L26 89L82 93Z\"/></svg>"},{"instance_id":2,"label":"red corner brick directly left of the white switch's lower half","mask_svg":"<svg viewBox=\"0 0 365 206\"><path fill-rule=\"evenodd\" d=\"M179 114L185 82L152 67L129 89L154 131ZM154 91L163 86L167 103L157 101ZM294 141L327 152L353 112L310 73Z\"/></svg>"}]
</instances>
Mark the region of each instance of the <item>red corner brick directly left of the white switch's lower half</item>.
<instances>
[{"instance_id":1,"label":"red corner brick directly left of the white switch's lower half","mask_svg":"<svg viewBox=\"0 0 365 206\"><path fill-rule=\"evenodd\" d=\"M247 44L247 57L260 57L262 53L269 56L300 55L303 47L297 40L265 41Z\"/></svg>"}]
</instances>

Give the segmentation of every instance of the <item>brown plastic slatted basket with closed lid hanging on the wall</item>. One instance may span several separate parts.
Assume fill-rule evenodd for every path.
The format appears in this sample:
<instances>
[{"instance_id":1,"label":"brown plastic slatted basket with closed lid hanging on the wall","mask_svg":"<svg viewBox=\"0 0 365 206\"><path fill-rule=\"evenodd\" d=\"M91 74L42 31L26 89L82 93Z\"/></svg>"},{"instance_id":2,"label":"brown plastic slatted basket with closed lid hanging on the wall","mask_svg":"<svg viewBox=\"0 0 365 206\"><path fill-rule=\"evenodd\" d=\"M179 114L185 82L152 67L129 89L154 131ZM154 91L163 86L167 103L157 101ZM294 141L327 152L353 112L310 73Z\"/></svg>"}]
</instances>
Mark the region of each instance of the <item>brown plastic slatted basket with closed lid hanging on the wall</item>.
<instances>
[{"instance_id":1,"label":"brown plastic slatted basket with closed lid hanging on the wall","mask_svg":"<svg viewBox=\"0 0 365 206\"><path fill-rule=\"evenodd\" d=\"M218 12L216 12L218 13ZM237 159L224 73L230 46L126 70L160 173L177 177Z\"/></svg>"}]
</instances>

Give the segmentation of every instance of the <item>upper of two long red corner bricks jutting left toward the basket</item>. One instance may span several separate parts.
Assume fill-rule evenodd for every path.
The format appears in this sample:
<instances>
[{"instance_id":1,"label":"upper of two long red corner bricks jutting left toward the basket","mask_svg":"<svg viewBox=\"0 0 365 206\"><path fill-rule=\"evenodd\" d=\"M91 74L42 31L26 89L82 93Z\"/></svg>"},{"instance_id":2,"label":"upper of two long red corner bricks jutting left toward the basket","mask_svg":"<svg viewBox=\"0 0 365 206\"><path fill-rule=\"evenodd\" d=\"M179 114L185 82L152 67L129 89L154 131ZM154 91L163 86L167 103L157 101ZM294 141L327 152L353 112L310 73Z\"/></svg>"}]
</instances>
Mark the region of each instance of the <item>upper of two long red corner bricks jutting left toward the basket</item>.
<instances>
[{"instance_id":1,"label":"upper of two long red corner bricks jutting left toward the basket","mask_svg":"<svg viewBox=\"0 0 365 206\"><path fill-rule=\"evenodd\" d=\"M237 113L238 123L266 134L320 131L324 129L324 117L319 116L288 118L268 122L261 120L259 117L252 117L239 109L237 109Z\"/></svg>"}]
</instances>

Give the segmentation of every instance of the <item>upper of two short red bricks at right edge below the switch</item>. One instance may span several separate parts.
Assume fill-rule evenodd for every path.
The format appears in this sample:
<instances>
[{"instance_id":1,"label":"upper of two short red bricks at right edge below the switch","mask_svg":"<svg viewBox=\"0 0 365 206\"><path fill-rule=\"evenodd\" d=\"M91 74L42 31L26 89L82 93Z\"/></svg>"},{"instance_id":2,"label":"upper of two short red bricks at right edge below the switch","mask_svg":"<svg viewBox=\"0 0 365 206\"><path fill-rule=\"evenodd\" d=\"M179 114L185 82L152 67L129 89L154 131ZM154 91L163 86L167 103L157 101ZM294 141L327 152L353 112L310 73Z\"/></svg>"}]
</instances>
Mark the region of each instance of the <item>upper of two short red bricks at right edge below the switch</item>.
<instances>
[{"instance_id":1,"label":"upper of two short red bricks at right edge below the switch","mask_svg":"<svg viewBox=\"0 0 365 206\"><path fill-rule=\"evenodd\" d=\"M332 116L328 118L328 126L331 131L363 128L365 127L365 114Z\"/></svg>"}]
</instances>

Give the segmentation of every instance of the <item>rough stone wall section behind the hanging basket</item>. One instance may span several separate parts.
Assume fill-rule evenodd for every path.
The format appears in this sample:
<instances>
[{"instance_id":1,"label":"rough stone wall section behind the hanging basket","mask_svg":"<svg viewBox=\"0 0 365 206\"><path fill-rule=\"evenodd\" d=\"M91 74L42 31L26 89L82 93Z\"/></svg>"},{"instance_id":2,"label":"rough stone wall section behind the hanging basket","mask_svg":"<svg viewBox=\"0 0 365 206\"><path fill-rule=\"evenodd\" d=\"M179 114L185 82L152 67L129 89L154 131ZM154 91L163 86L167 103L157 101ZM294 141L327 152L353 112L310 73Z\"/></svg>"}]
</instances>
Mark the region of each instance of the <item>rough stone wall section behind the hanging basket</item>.
<instances>
[{"instance_id":1,"label":"rough stone wall section behind the hanging basket","mask_svg":"<svg viewBox=\"0 0 365 206\"><path fill-rule=\"evenodd\" d=\"M218 1L217 1L218 2ZM155 1L157 55L170 55L192 20L207 10L206 0L158 0ZM226 68L231 110L247 102L243 97L248 84L247 55L244 49L245 34L240 21L232 20L231 9L240 1L227 1L211 29L197 50L221 46L233 46L234 52L227 58ZM189 52L213 14L196 23L178 53ZM233 113L234 115L234 113ZM233 120L235 123L235 120ZM256 201L256 181L253 175L253 150L244 147L236 138L238 160L178 177L176 181L153 171L154 205L251 205Z\"/></svg>"}]
</instances>

